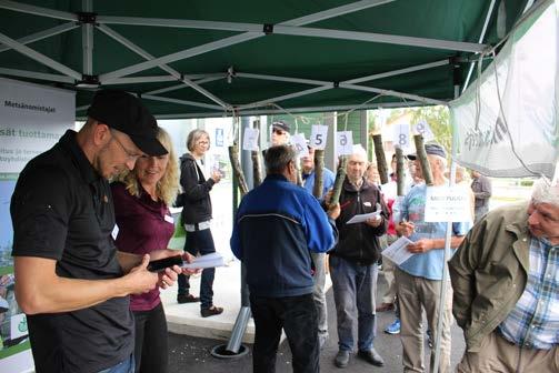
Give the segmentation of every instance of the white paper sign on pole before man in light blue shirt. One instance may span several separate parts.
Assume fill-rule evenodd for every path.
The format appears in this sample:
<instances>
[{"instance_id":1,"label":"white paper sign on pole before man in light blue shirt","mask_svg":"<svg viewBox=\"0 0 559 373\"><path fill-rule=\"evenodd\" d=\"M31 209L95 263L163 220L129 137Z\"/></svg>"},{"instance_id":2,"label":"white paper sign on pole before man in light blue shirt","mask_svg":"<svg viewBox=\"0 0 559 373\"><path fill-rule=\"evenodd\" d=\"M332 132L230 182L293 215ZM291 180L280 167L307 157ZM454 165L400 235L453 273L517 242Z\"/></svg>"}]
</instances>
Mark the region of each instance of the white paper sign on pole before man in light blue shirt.
<instances>
[{"instance_id":1,"label":"white paper sign on pole before man in light blue shirt","mask_svg":"<svg viewBox=\"0 0 559 373\"><path fill-rule=\"evenodd\" d=\"M470 194L467 186L428 186L426 222L471 222Z\"/></svg>"}]
</instances>

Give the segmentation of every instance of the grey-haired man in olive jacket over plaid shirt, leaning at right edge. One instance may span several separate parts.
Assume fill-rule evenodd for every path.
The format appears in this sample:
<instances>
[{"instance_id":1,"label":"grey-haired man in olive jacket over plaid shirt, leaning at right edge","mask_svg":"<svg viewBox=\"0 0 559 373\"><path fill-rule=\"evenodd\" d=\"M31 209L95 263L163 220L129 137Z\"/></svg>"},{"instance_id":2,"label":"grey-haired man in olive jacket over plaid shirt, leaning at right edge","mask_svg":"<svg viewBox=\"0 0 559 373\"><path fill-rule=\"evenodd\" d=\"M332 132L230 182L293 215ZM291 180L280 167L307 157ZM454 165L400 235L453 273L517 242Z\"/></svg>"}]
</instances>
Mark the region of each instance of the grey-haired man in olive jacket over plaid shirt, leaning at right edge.
<instances>
[{"instance_id":1,"label":"grey-haired man in olive jacket over plaid shirt, leaning at right edge","mask_svg":"<svg viewBox=\"0 0 559 373\"><path fill-rule=\"evenodd\" d=\"M488 213L449 262L457 372L559 372L559 185Z\"/></svg>"}]
</instances>

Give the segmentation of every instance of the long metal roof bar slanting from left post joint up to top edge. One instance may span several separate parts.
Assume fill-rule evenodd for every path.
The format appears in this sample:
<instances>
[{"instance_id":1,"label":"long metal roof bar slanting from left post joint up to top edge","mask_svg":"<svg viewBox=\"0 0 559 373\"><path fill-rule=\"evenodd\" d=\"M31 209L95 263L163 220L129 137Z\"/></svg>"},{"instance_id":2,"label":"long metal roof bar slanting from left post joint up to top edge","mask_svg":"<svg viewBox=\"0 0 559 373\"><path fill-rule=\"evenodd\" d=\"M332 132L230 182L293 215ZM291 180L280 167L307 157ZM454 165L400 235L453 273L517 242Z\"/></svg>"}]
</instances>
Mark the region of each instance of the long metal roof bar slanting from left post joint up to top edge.
<instances>
[{"instance_id":1,"label":"long metal roof bar slanting from left post joint up to top edge","mask_svg":"<svg viewBox=\"0 0 559 373\"><path fill-rule=\"evenodd\" d=\"M0 1L3 1L3 0L0 0ZM383 4L383 3L387 3L387 2L391 2L391 1L395 1L395 0L363 0L363 1L357 1L355 3L346 4L346 6L342 6L342 7L332 8L332 9L329 9L329 10L325 10L325 11L317 12L317 13L313 13L313 14L305 16L305 17L301 17L301 18L296 18L296 19L290 20L290 21L281 22L279 24L280 26L281 24L283 24L283 26L303 26L303 24L309 24L309 23L313 23L313 22L317 22L317 21L322 21L322 20L326 20L326 19L329 19L329 18L333 18L333 17L338 17L338 16L351 13L351 12L355 12L355 11L363 10L363 9L367 9L367 8L372 8L372 7L380 6L380 4ZM261 38L263 36L264 36L264 33L262 31L260 31L260 32L243 32L243 33L238 34L238 36L233 36L233 37L224 38L224 39L221 39L221 40L212 41L212 42L209 42L209 43L206 43L206 44L202 44L202 46L198 46L198 47L193 47L193 48L180 51L180 52L176 52L176 53L171 53L171 54L168 54L168 56L163 56L163 57L160 57L160 58L151 60L151 61L141 62L141 63L138 63L138 64L130 65L128 68L123 68L123 69L119 69L119 70L112 71L112 72L108 72L108 73L102 74L101 77L99 77L99 79L100 80L111 80L111 79L114 79L114 78L120 78L120 77L129 75L129 74L132 74L134 72L140 72L140 71L143 71L143 70L148 70L148 69L154 68L154 67L159 65L160 63L170 63L170 62L174 62L174 61L178 61L178 60L183 60L183 59L187 59L187 58L190 58L190 57L194 57L194 56L203 54L203 53L207 53L207 52L211 52L211 51L217 50L217 49L221 49L221 48L230 47L230 46L238 44L238 43L241 43L241 42L244 42L244 41L258 39L258 38Z\"/></svg>"}]
</instances>

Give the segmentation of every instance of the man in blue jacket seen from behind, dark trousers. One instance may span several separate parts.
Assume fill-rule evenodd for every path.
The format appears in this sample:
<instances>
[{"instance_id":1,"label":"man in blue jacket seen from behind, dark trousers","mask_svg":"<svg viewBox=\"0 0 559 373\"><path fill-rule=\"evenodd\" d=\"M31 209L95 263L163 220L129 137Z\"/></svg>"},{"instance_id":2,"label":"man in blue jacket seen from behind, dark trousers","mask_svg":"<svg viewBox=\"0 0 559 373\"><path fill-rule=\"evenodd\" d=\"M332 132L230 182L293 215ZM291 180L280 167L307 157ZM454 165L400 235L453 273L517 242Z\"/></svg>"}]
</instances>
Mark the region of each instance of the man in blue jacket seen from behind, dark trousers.
<instances>
[{"instance_id":1,"label":"man in blue jacket seen from behind, dark trousers","mask_svg":"<svg viewBox=\"0 0 559 373\"><path fill-rule=\"evenodd\" d=\"M268 149L267 178L241 201L231 250L247 268L256 324L254 373L276 371L281 329L291 347L293 372L319 371L317 310L312 299L311 252L333 246L339 205L325 213L317 199L297 186L296 152Z\"/></svg>"}]
</instances>

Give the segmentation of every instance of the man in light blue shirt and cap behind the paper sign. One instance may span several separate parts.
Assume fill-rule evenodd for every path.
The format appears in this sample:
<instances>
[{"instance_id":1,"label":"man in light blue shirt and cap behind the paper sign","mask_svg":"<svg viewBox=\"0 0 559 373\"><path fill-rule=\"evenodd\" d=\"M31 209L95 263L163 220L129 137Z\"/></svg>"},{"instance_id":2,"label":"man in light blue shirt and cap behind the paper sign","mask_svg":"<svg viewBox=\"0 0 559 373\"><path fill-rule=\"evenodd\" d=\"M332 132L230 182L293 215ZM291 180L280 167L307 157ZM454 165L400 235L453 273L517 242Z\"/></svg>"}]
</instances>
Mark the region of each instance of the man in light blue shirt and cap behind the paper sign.
<instances>
[{"instance_id":1,"label":"man in light blue shirt and cap behind the paper sign","mask_svg":"<svg viewBox=\"0 0 559 373\"><path fill-rule=\"evenodd\" d=\"M447 168L445 149L437 143L429 143L425 145L425 150L432 172L433 186L446 185L448 181L445 178ZM408 158L415 160L418 177L422 178L423 172L417 155L411 154ZM432 331L432 337L436 340L439 309L442 306L445 312L442 313L441 357L438 372L447 373L450 372L452 296L447 294L445 305L440 304L439 300L445 266L443 249L447 223L426 222L426 184L413 186L399 204L399 216L395 216L396 232L413 242L407 249L415 254L398 265L395 273L401 322L403 371L425 371L422 310L426 311L428 327ZM468 223L452 223L451 248L457 248L462 242L468 229ZM451 291L450 285L447 291ZM433 371L433 363L435 350L431 350L429 372Z\"/></svg>"}]
</instances>

